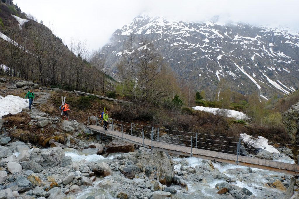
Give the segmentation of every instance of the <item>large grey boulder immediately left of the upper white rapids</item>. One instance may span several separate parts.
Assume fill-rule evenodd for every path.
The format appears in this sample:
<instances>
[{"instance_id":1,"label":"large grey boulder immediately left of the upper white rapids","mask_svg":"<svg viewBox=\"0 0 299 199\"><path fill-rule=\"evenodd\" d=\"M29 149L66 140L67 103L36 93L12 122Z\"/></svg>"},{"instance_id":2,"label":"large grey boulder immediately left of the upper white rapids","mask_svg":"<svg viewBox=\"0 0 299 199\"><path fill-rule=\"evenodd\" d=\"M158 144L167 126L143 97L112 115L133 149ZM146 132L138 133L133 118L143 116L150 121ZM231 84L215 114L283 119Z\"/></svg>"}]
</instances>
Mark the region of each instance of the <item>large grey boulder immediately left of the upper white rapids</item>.
<instances>
[{"instance_id":1,"label":"large grey boulder immediately left of the upper white rapids","mask_svg":"<svg viewBox=\"0 0 299 199\"><path fill-rule=\"evenodd\" d=\"M42 158L44 161L39 163L42 165L43 168L48 168L52 166L58 165L62 158L65 156L64 151L60 147L54 147L51 149L48 149L46 152L41 153Z\"/></svg>"}]
</instances>

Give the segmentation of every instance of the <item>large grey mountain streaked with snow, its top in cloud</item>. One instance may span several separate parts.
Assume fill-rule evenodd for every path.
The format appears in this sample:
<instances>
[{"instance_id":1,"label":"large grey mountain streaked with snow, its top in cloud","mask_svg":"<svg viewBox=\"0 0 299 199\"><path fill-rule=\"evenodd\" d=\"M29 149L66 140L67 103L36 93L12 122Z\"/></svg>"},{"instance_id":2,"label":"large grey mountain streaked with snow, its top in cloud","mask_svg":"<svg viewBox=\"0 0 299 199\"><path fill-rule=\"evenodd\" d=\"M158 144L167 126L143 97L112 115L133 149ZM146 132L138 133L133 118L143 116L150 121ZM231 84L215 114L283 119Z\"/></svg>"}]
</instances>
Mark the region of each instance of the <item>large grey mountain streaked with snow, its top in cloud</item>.
<instances>
[{"instance_id":1,"label":"large grey mountain streaked with snow, its top in cloud","mask_svg":"<svg viewBox=\"0 0 299 199\"><path fill-rule=\"evenodd\" d=\"M115 64L126 53L124 40L130 33L153 41L170 67L192 81L196 90L209 88L216 93L220 78L225 78L232 90L243 94L257 91L267 98L299 87L299 33L142 14L116 30L112 42L104 47L115 75Z\"/></svg>"}]
</instances>

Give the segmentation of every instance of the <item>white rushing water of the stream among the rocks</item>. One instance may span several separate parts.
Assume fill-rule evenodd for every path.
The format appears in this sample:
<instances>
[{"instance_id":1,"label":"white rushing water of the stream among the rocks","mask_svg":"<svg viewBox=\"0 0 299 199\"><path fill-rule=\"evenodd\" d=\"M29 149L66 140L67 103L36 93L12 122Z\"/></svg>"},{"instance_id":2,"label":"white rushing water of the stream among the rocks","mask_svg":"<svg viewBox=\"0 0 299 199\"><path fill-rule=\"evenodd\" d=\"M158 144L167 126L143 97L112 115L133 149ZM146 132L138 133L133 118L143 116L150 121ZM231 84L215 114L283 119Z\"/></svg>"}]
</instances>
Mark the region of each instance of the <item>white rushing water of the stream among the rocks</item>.
<instances>
[{"instance_id":1,"label":"white rushing water of the stream among the rocks","mask_svg":"<svg viewBox=\"0 0 299 199\"><path fill-rule=\"evenodd\" d=\"M107 158L104 158L101 155L85 155L80 152L78 152L76 149L64 149L65 155L72 158L74 162L80 162L82 160L87 160L89 162L102 162L102 161L108 161L111 160L117 156L120 156L121 153L115 153L110 154ZM287 162L287 163L294 163L294 161L291 158L283 157L283 158L276 158L275 161L281 161L281 162ZM196 170L200 169L201 166L204 166L206 164L206 161L203 161L203 159L200 158L194 158L194 157L188 157L188 158L173 158L173 162L182 161L187 164L188 167L194 167ZM185 165L186 166L186 165ZM232 164L224 164L224 163L213 163L213 166L215 168L215 172L220 172L221 174L224 174L225 176L228 176L229 178L235 179L235 182L232 182L232 184L239 186L239 187L246 187L249 189L257 198L262 198L265 196L265 191L267 189L271 190L272 193L275 193L277 195L281 195L282 192L278 189L274 188L268 188L265 187L264 184L268 182L268 180L265 178L265 175L267 176L286 176L285 174L278 173L278 172L272 172L267 171L263 169L255 169L251 168L252 172L247 173L241 173L239 175L236 175L232 172L229 172L231 169L244 169L245 171L248 171L248 167L245 166L239 166L239 165L232 165ZM174 166L175 171L179 172L181 169L181 164L176 164ZM86 189L77 194L77 198L85 199L89 195L104 195L106 198L114 198L112 195L109 194L109 192L105 189L102 189L99 185L103 180L105 179L113 179L113 178L119 178L122 174L120 174L119 171L113 171L113 174L111 176L107 176L105 178L101 178L100 181L95 181L93 183L93 186L86 187ZM291 176L290 176L291 177ZM290 178L289 177L289 178ZM123 177L125 178L125 177ZM138 184L138 181L141 179L134 178L132 180L129 180L127 178L124 179L126 183L132 183L132 184ZM194 182L192 178L184 179L185 182L188 185L188 191L184 191L180 189L178 185L171 185L170 187L173 187L177 190L177 196L179 198L193 198L193 197L202 197L205 196L205 198L225 198L226 195L218 195L217 189L215 189L215 185L217 183L224 182L224 179L218 179L218 178L212 178L211 176L205 176L205 181L199 181ZM276 196L277 196L276 195ZM134 197L133 197L134 198Z\"/></svg>"}]
</instances>

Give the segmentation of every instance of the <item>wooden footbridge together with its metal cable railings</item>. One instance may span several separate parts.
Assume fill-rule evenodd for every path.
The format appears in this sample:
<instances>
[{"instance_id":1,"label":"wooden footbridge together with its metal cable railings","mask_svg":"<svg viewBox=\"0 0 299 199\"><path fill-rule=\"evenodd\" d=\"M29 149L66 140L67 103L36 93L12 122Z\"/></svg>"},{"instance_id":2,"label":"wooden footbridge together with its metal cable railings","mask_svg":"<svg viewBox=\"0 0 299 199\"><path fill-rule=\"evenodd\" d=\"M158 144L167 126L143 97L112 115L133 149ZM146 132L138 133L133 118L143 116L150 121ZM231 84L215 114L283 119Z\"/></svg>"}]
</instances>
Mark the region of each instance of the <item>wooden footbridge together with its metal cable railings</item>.
<instances>
[{"instance_id":1,"label":"wooden footbridge together with its metal cable railings","mask_svg":"<svg viewBox=\"0 0 299 199\"><path fill-rule=\"evenodd\" d=\"M240 152L241 138L153 128L117 120L111 120L109 128L105 131L99 120L94 120L94 118L92 120L88 118L88 129L153 150L290 175L299 174L299 165L297 164L263 159L267 157L263 157L262 155L258 156L261 158L243 156L245 155L244 152ZM216 138L211 139L212 137ZM273 144L278 145L279 143ZM280 146L285 145L288 144L280 144ZM273 148L272 146L269 147ZM281 155L282 153L279 154Z\"/></svg>"}]
</instances>

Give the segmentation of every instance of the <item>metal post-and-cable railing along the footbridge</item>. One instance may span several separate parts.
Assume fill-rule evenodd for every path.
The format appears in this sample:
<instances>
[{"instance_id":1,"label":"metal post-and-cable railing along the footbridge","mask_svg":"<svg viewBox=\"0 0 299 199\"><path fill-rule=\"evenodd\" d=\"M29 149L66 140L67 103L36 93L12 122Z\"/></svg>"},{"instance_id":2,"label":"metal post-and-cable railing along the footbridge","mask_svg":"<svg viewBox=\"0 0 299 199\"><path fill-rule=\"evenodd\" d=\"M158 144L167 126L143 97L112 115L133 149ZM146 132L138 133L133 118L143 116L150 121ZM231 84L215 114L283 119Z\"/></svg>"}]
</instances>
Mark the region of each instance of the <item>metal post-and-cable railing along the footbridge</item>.
<instances>
[{"instance_id":1,"label":"metal post-and-cable railing along the footbridge","mask_svg":"<svg viewBox=\"0 0 299 199\"><path fill-rule=\"evenodd\" d=\"M179 130L172 130L172 129L165 129L165 128L155 128L155 127L145 126L141 124L118 121L115 119L111 119L109 123L111 125L108 125L107 128L121 132L122 138L123 138L123 134L133 135L142 138L143 140L142 146L144 146L144 139L146 138L151 140L151 148L153 148L153 141L190 147L191 148L190 156L193 155L193 148L235 154L237 155L237 161L236 161L237 164L239 162L240 155L242 156L247 155L246 153L241 152L240 150L241 143L242 143L241 136L235 138L235 137L212 135L212 134L205 134L199 132L186 132L186 131L179 131ZM90 117L88 117L88 125L91 124L102 126L101 122L99 121L99 116L96 116L96 119L93 120L91 120ZM297 148L299 149L298 145L272 143L272 142L265 142L265 143L276 144L279 146L288 146L288 145L297 146ZM250 148L250 144L246 144L246 143L242 143L242 144L245 145L244 148L247 150L251 150L256 153L259 151L258 149ZM263 146L263 148L273 148L273 146ZM275 148L275 149L285 150L286 148ZM288 149L288 150L291 150L292 154L295 154L295 152L298 152L298 149ZM289 155L281 152L279 154L286 155L286 156ZM262 155L259 156L267 158L267 156L262 156ZM298 161L295 161L295 163L298 163Z\"/></svg>"}]
</instances>

